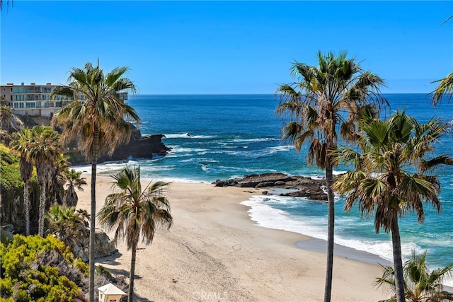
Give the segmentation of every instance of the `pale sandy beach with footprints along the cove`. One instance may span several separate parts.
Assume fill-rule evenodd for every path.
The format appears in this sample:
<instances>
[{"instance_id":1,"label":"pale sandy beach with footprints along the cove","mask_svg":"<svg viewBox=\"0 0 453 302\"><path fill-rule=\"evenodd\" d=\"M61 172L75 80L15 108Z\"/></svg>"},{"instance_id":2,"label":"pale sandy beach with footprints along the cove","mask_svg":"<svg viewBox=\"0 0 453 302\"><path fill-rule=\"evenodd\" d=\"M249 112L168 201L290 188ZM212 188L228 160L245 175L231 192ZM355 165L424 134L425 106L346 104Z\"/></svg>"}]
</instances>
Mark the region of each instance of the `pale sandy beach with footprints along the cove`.
<instances>
[{"instance_id":1,"label":"pale sandy beach with footprints along the cove","mask_svg":"<svg viewBox=\"0 0 453 302\"><path fill-rule=\"evenodd\" d=\"M91 175L77 207L90 207ZM110 178L98 177L96 207L110 192ZM151 245L137 250L137 301L323 301L324 252L297 248L299 233L257 226L240 204L259 190L172 183L166 194L173 226L159 231ZM111 237L111 236L110 236ZM130 251L98 259L113 274L129 276ZM373 286L379 265L336 256L332 301L387 298Z\"/></svg>"}]
</instances>

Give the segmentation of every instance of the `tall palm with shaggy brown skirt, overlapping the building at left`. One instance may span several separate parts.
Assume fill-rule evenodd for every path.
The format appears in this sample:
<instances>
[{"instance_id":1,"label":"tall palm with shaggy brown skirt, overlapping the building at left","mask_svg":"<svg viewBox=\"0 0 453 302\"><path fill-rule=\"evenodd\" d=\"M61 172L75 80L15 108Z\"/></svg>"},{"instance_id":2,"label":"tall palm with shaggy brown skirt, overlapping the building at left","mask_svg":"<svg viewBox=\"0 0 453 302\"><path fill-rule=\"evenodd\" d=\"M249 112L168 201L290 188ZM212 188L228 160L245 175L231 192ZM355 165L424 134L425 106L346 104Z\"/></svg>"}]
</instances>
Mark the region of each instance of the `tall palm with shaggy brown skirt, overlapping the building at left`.
<instances>
[{"instance_id":1,"label":"tall palm with shaggy brown skirt, overlapping the building at left","mask_svg":"<svg viewBox=\"0 0 453 302\"><path fill-rule=\"evenodd\" d=\"M78 139L78 146L91 161L91 222L90 222L90 281L89 298L94 299L94 245L96 233L96 167L101 153L113 153L115 147L130 139L126 119L139 121L135 110L121 100L117 92L136 91L134 83L123 77L127 67L117 67L108 74L86 63L83 69L69 71L69 84L55 87L50 93L56 98L74 101L57 111L52 124L62 127L64 144Z\"/></svg>"}]
</instances>

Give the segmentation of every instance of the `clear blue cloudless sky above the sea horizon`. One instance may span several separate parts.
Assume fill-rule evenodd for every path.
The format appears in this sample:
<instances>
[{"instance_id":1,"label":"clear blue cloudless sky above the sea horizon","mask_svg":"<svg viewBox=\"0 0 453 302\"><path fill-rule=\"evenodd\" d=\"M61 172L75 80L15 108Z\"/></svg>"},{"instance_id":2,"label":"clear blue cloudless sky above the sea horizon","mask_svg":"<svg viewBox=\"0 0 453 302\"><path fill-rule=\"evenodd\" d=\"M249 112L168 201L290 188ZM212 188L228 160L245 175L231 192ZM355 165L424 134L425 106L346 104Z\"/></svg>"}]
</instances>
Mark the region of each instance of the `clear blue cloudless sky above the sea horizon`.
<instances>
[{"instance_id":1,"label":"clear blue cloudless sky above the sea horizon","mask_svg":"<svg viewBox=\"0 0 453 302\"><path fill-rule=\"evenodd\" d=\"M347 50L385 93L425 93L453 71L452 15L453 1L14 0L0 83L67 83L99 58L139 93L274 93L294 60Z\"/></svg>"}]
</instances>

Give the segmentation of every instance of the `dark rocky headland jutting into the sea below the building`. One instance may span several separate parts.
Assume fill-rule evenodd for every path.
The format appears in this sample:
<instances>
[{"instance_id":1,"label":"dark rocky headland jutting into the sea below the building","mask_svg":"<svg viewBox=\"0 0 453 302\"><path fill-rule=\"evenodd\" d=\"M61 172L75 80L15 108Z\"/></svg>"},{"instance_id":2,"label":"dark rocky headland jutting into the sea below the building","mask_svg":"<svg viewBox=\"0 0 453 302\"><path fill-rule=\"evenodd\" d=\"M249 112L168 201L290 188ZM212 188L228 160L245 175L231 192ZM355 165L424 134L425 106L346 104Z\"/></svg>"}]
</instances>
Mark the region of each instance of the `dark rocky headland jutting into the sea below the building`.
<instances>
[{"instance_id":1,"label":"dark rocky headland jutting into the sea below the building","mask_svg":"<svg viewBox=\"0 0 453 302\"><path fill-rule=\"evenodd\" d=\"M117 146L112 156L103 154L98 158L98 163L105 161L125 161L128 158L153 158L154 156L164 156L171 150L162 143L163 134L144 135L137 127L131 125L131 138L128 144ZM69 156L72 165L88 165L90 162L79 151L71 150L65 155Z\"/></svg>"}]
</instances>

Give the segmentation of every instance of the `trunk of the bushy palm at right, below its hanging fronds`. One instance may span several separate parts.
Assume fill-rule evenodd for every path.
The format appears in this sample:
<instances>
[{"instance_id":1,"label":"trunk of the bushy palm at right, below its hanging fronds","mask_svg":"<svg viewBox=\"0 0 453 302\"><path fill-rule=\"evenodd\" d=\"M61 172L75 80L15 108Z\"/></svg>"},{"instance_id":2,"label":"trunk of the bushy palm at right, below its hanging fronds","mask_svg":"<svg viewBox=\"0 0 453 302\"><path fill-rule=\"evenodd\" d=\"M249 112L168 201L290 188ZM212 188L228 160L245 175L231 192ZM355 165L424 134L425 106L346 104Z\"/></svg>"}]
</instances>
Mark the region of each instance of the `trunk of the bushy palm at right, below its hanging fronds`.
<instances>
[{"instance_id":1,"label":"trunk of the bushy palm at right, below its hanging fronds","mask_svg":"<svg viewBox=\"0 0 453 302\"><path fill-rule=\"evenodd\" d=\"M394 215L391 223L391 243L394 248L394 268L395 268L395 286L396 301L406 301L404 295L404 277L403 277L403 260L401 255L401 237L399 234L398 215Z\"/></svg>"}]
</instances>

